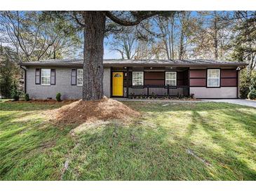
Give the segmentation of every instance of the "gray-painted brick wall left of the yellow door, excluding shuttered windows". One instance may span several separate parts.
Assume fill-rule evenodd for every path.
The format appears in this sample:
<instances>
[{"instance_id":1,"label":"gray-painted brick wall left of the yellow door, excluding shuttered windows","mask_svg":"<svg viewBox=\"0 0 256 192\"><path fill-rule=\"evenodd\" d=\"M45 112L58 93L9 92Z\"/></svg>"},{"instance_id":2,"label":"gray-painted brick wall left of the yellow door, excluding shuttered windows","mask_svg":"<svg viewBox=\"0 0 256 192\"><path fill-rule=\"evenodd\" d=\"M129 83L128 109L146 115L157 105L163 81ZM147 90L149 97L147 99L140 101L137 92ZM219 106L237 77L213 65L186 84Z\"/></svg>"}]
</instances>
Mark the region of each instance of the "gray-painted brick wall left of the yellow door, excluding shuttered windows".
<instances>
[{"instance_id":1,"label":"gray-painted brick wall left of the yellow door, excluding shuttered windows","mask_svg":"<svg viewBox=\"0 0 256 192\"><path fill-rule=\"evenodd\" d=\"M30 98L47 99L52 97L55 99L57 92L62 95L62 100L81 99L82 86L71 85L71 67L50 67L56 69L56 83L55 85L36 85L35 71L39 67L27 68L27 93ZM50 69L49 67L41 67L43 69ZM110 68L104 69L103 89L107 97L110 96Z\"/></svg>"}]
</instances>

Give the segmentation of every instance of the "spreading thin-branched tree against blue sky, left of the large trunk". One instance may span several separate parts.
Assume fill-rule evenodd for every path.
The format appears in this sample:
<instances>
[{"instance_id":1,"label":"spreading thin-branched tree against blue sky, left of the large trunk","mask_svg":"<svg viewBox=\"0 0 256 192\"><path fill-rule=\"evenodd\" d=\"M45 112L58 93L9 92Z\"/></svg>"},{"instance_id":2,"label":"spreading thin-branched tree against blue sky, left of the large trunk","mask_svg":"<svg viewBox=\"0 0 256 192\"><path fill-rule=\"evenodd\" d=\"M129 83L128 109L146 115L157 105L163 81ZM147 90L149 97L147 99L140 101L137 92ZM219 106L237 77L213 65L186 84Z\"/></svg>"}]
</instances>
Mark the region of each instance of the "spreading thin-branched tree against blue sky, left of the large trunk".
<instances>
[{"instance_id":1,"label":"spreading thin-branched tree against blue sky, left of the large trunk","mask_svg":"<svg viewBox=\"0 0 256 192\"><path fill-rule=\"evenodd\" d=\"M60 59L74 55L81 46L78 30L70 21L49 12L3 11L2 41L13 46L20 62Z\"/></svg>"}]
</instances>

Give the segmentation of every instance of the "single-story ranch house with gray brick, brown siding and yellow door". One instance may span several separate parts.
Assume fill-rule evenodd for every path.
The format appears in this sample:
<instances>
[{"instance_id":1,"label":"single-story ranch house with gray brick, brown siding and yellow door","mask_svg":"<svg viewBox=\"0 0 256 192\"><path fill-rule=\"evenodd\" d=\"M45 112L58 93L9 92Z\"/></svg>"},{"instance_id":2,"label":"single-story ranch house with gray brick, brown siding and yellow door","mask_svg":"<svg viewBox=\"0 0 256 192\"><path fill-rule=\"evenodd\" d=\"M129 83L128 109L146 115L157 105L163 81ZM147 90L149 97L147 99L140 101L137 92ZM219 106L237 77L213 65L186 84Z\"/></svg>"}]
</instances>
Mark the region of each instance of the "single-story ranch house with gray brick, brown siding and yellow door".
<instances>
[{"instance_id":1,"label":"single-story ranch house with gray brick, brown siding and yellow door","mask_svg":"<svg viewBox=\"0 0 256 192\"><path fill-rule=\"evenodd\" d=\"M216 60L104 60L107 97L135 95L239 97L242 62ZM83 60L44 60L20 63L25 69L25 92L35 99L80 99Z\"/></svg>"}]
</instances>

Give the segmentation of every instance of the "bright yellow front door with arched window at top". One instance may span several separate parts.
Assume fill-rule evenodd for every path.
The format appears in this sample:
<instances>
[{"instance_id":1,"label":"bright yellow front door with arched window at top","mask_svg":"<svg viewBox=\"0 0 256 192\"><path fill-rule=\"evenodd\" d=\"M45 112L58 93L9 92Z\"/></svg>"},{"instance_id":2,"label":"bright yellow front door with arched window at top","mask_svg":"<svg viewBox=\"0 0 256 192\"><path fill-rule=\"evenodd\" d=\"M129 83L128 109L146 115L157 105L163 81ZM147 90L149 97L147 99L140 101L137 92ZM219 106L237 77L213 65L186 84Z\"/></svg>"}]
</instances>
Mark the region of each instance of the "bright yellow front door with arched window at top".
<instances>
[{"instance_id":1,"label":"bright yellow front door with arched window at top","mask_svg":"<svg viewBox=\"0 0 256 192\"><path fill-rule=\"evenodd\" d=\"M123 96L123 72L112 72L112 96Z\"/></svg>"}]
</instances>

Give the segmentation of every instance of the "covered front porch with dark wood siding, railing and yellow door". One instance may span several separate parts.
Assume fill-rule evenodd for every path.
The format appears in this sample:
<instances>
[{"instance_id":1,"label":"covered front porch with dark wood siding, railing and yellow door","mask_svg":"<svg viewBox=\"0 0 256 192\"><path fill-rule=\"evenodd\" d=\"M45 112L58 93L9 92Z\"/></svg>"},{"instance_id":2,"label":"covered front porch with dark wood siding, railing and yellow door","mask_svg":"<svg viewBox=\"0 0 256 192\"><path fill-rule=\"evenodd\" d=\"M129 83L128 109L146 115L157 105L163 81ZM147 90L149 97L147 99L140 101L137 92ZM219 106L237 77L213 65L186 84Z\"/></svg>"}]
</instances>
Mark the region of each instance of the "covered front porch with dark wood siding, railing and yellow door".
<instances>
[{"instance_id":1,"label":"covered front porch with dark wood siding, railing and yellow door","mask_svg":"<svg viewBox=\"0 0 256 192\"><path fill-rule=\"evenodd\" d=\"M116 73L119 73L116 76ZM112 67L112 97L189 97L189 67ZM122 93L114 95L115 77Z\"/></svg>"}]
</instances>

